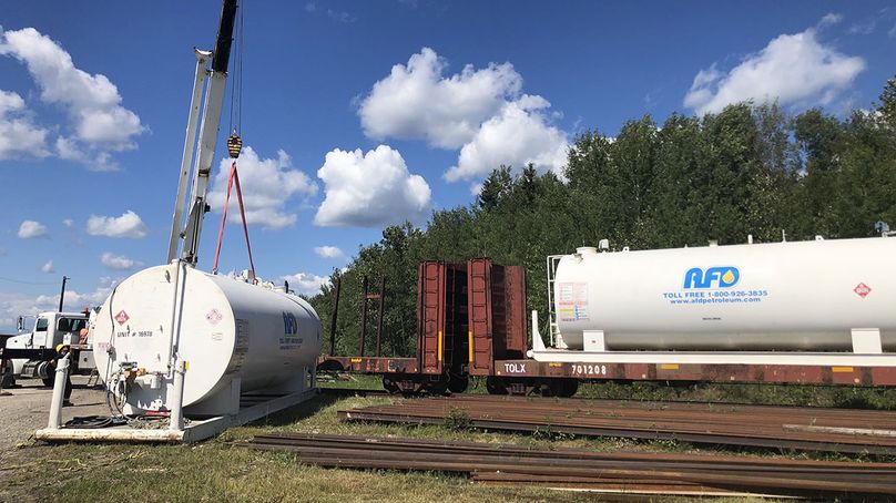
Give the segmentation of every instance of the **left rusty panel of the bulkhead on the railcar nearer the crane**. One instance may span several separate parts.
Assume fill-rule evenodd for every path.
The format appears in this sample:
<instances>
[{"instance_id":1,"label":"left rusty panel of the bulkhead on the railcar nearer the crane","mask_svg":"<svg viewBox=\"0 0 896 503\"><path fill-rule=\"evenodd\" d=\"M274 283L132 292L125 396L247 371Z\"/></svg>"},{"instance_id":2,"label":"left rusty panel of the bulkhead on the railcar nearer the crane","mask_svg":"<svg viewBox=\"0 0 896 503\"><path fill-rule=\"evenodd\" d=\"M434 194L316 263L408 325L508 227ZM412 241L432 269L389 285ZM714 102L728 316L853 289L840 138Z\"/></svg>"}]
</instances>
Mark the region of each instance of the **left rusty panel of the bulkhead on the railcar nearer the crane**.
<instances>
[{"instance_id":1,"label":"left rusty panel of the bulkhead on the railcar nearer the crane","mask_svg":"<svg viewBox=\"0 0 896 503\"><path fill-rule=\"evenodd\" d=\"M424 373L441 373L446 271L444 261L425 261L419 268L417 357Z\"/></svg>"}]
</instances>

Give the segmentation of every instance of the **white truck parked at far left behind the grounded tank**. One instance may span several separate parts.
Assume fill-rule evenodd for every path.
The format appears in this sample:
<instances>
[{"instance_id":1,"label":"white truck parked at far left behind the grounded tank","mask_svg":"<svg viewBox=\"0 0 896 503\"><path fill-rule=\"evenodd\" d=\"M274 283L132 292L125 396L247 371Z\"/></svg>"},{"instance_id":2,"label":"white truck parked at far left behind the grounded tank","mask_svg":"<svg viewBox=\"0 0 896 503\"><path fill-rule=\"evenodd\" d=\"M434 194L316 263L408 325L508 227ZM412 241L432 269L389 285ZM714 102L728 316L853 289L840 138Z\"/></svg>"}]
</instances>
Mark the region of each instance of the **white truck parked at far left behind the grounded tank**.
<instances>
[{"instance_id":1,"label":"white truck parked at far left behind the grounded tank","mask_svg":"<svg viewBox=\"0 0 896 503\"><path fill-rule=\"evenodd\" d=\"M55 347L68 345L72 351L72 372L90 373L96 368L93 361L93 347L90 340L82 341L81 329L88 328L93 311L85 312L41 312L35 317L31 332L7 339L0 348L0 379L2 387L16 383L17 378L42 379L47 386L53 384L55 372L52 362L58 358ZM19 317L19 331L24 328L23 317Z\"/></svg>"}]
</instances>

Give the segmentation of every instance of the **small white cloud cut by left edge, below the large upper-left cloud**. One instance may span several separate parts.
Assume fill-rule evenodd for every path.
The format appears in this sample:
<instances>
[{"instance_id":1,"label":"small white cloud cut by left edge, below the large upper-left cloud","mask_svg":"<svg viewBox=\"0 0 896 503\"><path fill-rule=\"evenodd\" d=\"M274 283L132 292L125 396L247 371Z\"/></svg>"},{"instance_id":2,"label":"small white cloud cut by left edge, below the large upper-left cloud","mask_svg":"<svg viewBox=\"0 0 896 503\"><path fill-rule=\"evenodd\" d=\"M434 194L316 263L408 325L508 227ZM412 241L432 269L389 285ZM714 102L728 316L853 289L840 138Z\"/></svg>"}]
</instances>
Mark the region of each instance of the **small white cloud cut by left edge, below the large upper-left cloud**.
<instances>
[{"instance_id":1,"label":"small white cloud cut by left edge, below the large upper-left cloud","mask_svg":"<svg viewBox=\"0 0 896 503\"><path fill-rule=\"evenodd\" d=\"M48 155L47 130L33 124L22 96L0 90L0 160Z\"/></svg>"}]
</instances>

